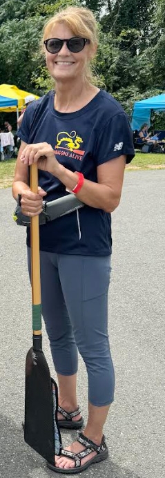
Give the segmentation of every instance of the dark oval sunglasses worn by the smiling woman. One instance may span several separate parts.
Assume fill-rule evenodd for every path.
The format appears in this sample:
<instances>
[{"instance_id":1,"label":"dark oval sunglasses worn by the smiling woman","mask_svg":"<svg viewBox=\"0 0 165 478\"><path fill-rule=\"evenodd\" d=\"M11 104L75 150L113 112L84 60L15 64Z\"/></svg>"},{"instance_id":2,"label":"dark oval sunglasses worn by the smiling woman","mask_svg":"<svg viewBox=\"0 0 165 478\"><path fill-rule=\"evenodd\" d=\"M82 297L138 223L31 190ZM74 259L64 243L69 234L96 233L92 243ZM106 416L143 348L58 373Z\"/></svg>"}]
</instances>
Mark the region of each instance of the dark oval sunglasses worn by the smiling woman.
<instances>
[{"instance_id":1,"label":"dark oval sunglasses worn by the smiling woman","mask_svg":"<svg viewBox=\"0 0 165 478\"><path fill-rule=\"evenodd\" d=\"M52 54L58 53L63 47L64 43L66 43L68 50L70 50L72 53L78 53L79 51L83 50L86 43L90 43L90 40L81 37L72 37L68 40L49 38L48 40L43 41L43 43L46 46L46 50Z\"/></svg>"}]
</instances>

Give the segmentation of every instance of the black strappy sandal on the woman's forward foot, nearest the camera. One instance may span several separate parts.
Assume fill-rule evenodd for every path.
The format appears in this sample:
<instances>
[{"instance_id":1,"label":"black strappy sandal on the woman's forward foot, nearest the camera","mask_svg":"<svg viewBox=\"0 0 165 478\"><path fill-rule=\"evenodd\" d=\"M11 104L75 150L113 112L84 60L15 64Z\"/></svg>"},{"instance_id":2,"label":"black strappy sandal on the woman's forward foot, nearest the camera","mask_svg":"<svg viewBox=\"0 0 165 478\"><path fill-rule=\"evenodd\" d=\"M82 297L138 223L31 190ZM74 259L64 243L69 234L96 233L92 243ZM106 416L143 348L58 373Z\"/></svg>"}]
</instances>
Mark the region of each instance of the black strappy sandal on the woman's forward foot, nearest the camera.
<instances>
[{"instance_id":1,"label":"black strappy sandal on the woman's forward foot, nearest the camera","mask_svg":"<svg viewBox=\"0 0 165 478\"><path fill-rule=\"evenodd\" d=\"M51 463L47 463L48 468L53 471L56 471L57 473L66 473L67 475L71 475L72 473L80 473L81 471L86 470L86 468L88 468L88 466L92 465L93 463L99 463L99 461L103 461L108 457L108 448L105 443L104 435L101 439L101 443L99 446L97 446L96 443L85 437L83 433L79 433L77 441L79 441L79 443L81 443L81 445L85 447L85 450L82 450L81 452L75 454L69 452L68 450L62 449L60 453L60 455L63 455L64 457L73 459L75 461L75 468L59 468L58 466L51 465ZM97 455L95 455L95 457L91 458L89 461L87 461L84 465L81 466L81 459L87 457L92 452L97 452Z\"/></svg>"}]
</instances>

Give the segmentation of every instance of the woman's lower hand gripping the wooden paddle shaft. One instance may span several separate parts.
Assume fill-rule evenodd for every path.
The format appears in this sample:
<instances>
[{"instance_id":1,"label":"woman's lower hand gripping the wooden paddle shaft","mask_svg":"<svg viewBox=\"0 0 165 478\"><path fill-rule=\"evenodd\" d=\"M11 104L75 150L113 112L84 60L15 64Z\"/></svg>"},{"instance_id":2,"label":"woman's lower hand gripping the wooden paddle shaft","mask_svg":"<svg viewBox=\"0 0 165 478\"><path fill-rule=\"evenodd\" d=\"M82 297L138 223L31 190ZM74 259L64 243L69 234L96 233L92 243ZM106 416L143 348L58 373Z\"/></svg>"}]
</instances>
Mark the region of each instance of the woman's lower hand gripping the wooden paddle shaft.
<instances>
[{"instance_id":1,"label":"woman's lower hand gripping the wooden paddle shaft","mask_svg":"<svg viewBox=\"0 0 165 478\"><path fill-rule=\"evenodd\" d=\"M42 211L43 197L46 195L41 187L38 187L38 193L32 193L30 189L21 192L21 211L25 216L38 216Z\"/></svg>"}]
</instances>

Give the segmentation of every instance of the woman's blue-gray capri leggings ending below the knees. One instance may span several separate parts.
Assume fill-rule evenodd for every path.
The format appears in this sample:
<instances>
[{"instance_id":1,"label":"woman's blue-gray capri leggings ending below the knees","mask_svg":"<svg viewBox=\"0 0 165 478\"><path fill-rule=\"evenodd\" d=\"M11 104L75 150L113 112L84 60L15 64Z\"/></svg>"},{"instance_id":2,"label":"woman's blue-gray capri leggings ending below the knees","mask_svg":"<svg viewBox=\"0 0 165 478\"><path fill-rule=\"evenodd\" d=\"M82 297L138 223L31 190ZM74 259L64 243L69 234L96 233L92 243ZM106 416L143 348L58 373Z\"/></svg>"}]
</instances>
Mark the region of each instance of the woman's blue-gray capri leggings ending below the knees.
<instances>
[{"instance_id":1,"label":"woman's blue-gray capri leggings ending below the knees","mask_svg":"<svg viewBox=\"0 0 165 478\"><path fill-rule=\"evenodd\" d=\"M110 256L40 251L42 315L57 374L77 372L77 349L88 372L88 399L113 402L115 376L108 341ZM30 274L30 248L28 247Z\"/></svg>"}]
</instances>

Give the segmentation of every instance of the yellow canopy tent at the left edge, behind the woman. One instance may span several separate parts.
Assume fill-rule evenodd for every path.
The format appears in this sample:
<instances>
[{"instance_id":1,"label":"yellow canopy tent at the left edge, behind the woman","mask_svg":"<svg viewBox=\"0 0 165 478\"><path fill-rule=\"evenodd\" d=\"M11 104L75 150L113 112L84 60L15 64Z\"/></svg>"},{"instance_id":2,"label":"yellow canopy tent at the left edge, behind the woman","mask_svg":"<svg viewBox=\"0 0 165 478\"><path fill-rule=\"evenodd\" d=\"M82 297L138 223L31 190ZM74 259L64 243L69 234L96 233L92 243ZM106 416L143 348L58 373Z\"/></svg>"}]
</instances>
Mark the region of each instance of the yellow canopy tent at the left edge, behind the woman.
<instances>
[{"instance_id":1,"label":"yellow canopy tent at the left edge, behind the woman","mask_svg":"<svg viewBox=\"0 0 165 478\"><path fill-rule=\"evenodd\" d=\"M11 113L12 111L21 111L25 106L25 97L28 95L33 95L33 93L29 93L28 91L19 90L15 85L7 85L1 84L0 85L0 95L6 96L8 98L17 99L18 106L9 106L8 108L0 108L1 111L6 111L6 113ZM35 99L39 98L39 96L34 95Z\"/></svg>"}]
</instances>

